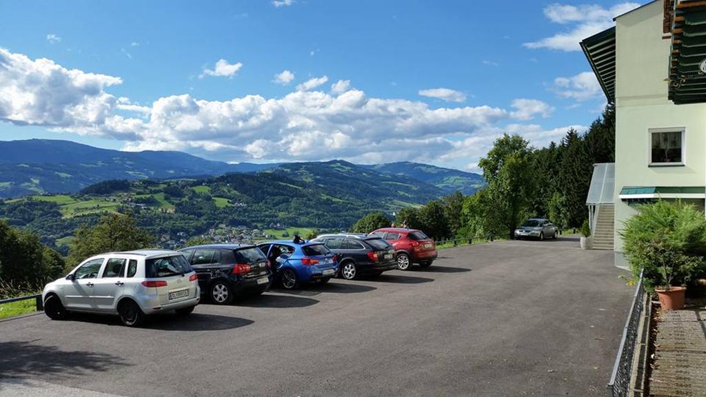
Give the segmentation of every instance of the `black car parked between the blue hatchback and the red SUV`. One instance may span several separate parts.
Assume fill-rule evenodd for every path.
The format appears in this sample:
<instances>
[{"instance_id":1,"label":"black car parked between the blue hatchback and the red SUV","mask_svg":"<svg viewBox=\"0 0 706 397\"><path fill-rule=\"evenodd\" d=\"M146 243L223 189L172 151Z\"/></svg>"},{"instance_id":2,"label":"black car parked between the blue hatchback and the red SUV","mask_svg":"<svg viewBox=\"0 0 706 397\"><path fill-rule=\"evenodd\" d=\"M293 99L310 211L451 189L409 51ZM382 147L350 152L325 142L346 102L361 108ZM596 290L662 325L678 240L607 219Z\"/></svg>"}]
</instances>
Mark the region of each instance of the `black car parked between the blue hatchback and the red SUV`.
<instances>
[{"instance_id":1,"label":"black car parked between the blue hatchback and the red SUV","mask_svg":"<svg viewBox=\"0 0 706 397\"><path fill-rule=\"evenodd\" d=\"M367 235L322 235L323 242L338 257L339 277L353 280L361 275L381 275L397 268L395 249L380 237Z\"/></svg>"}]
</instances>

